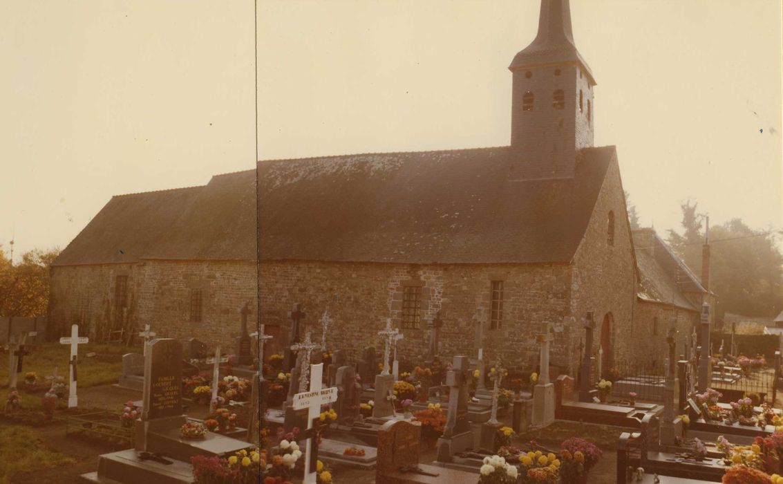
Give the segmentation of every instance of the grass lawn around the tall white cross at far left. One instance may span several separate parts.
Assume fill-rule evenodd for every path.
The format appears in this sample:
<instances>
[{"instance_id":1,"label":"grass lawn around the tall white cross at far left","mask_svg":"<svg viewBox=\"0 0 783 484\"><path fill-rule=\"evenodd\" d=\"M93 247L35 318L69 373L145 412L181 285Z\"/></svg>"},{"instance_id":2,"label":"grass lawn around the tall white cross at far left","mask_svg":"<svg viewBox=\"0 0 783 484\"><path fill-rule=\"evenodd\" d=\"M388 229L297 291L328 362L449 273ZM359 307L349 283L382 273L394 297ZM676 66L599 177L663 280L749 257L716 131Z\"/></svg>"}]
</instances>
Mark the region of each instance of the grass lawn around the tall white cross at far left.
<instances>
[{"instance_id":1,"label":"grass lawn around the tall white cross at far left","mask_svg":"<svg viewBox=\"0 0 783 484\"><path fill-rule=\"evenodd\" d=\"M59 342L49 342L41 345L28 346L30 354L24 357L22 373L19 374L19 388L23 387L24 374L34 371L38 374L38 385L49 386L45 377L52 374L57 367L57 374L63 377L63 383L68 384L68 360L70 345L60 345ZM95 352L96 356L87 357L87 353ZM142 348L124 345L99 345L88 343L79 345L78 378L79 388L89 388L107 383L117 383L122 373L122 355L129 352L142 352ZM7 388L8 378L7 354L0 357L0 388Z\"/></svg>"}]
</instances>

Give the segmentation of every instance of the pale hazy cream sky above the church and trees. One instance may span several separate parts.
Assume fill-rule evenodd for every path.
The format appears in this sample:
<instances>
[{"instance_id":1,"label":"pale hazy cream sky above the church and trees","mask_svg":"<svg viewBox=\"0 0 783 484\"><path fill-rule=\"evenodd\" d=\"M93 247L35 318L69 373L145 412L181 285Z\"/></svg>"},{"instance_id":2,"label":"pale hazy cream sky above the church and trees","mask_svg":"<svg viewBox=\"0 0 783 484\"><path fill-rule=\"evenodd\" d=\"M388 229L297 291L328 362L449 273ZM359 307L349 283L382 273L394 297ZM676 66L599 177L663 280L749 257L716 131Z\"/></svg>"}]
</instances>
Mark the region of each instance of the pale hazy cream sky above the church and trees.
<instances>
[{"instance_id":1,"label":"pale hazy cream sky above the church and trees","mask_svg":"<svg viewBox=\"0 0 783 484\"><path fill-rule=\"evenodd\" d=\"M255 9L0 3L0 248L63 248L113 195L255 159L508 145L507 67L537 0L258 0L258 90ZM642 225L665 236L691 200L712 224L781 229L781 3L571 11L595 144L617 146Z\"/></svg>"}]
</instances>

